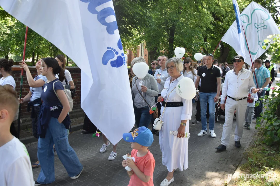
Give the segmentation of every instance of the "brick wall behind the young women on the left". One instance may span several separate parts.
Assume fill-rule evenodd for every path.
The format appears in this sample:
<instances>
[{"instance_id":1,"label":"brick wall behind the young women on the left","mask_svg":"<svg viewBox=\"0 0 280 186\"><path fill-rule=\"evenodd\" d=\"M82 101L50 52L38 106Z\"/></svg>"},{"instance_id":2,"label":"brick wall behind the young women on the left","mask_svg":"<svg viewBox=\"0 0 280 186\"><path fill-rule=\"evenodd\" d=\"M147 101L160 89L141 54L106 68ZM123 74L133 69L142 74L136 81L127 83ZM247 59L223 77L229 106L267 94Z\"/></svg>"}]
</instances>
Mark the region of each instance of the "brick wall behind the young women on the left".
<instances>
[{"instance_id":1,"label":"brick wall behind the young women on the left","mask_svg":"<svg viewBox=\"0 0 280 186\"><path fill-rule=\"evenodd\" d=\"M79 67L66 67L66 69L70 71L72 79L76 86L76 95L73 98L73 103L74 103L73 109L80 109L81 108L81 70ZM29 70L32 74L32 77L34 78L37 75L37 70L36 70L35 66L29 66ZM19 96L21 69L18 66L13 66L11 75L15 79L15 82L16 82L15 91L17 92L17 94ZM22 98L25 95L27 95L28 92L29 92L29 84L27 82L26 73L24 72ZM28 103L23 103L21 105L21 118L30 117L31 112L27 112L27 104Z\"/></svg>"}]
</instances>

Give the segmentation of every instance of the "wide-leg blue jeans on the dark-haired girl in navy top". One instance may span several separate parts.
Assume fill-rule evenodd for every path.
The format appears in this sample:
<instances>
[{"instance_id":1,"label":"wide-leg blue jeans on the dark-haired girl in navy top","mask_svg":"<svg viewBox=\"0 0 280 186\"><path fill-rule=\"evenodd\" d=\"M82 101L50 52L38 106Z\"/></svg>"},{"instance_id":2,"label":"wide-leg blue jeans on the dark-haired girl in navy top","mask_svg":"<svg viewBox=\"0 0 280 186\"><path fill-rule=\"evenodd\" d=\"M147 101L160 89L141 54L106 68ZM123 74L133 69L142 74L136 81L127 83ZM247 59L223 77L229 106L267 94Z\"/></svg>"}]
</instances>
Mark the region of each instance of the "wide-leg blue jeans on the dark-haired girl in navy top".
<instances>
[{"instance_id":1,"label":"wide-leg blue jeans on the dark-haired girl in navy top","mask_svg":"<svg viewBox=\"0 0 280 186\"><path fill-rule=\"evenodd\" d=\"M48 184L55 181L53 144L55 144L59 160L64 165L69 177L76 176L83 170L83 165L77 154L69 145L64 124L60 124L56 118L51 117L46 137L39 137L38 140L38 160L41 164L38 183Z\"/></svg>"}]
</instances>

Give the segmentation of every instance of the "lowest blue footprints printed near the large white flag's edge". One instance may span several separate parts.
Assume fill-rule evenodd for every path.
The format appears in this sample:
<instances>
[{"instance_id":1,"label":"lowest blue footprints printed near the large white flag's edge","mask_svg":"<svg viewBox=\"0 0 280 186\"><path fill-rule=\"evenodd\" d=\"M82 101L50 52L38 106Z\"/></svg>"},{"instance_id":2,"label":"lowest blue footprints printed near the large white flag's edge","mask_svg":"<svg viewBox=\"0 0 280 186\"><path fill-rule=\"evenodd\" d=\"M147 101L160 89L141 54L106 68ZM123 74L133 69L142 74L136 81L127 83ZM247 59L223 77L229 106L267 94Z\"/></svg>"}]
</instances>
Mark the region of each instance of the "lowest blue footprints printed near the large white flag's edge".
<instances>
[{"instance_id":1,"label":"lowest blue footprints printed near the large white flag's edge","mask_svg":"<svg viewBox=\"0 0 280 186\"><path fill-rule=\"evenodd\" d=\"M119 54L119 52L116 51L116 49L114 49L113 47L107 47L107 49L108 49L108 50L103 54L103 57L102 57L102 64L103 64L103 65L107 65L108 62L109 62L111 59L114 59L114 58L115 58L115 55L118 55L118 54ZM118 40L118 49L120 49L120 50L123 49L121 39ZM124 57L124 54L121 53L120 55L118 55L116 60L112 60L112 61L110 62L110 65L111 65L111 67L116 67L116 68L125 65L125 57Z\"/></svg>"}]
</instances>

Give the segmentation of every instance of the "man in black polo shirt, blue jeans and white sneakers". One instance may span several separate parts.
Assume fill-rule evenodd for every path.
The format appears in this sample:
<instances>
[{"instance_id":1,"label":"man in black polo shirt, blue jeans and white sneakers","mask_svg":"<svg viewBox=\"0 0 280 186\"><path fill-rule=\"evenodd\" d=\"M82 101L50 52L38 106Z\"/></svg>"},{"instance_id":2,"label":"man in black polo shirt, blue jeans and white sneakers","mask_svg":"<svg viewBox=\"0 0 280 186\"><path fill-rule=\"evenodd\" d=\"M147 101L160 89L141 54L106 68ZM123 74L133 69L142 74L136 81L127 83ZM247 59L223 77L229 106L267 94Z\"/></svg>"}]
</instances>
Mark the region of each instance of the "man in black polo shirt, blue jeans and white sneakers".
<instances>
[{"instance_id":1,"label":"man in black polo shirt, blue jeans and white sneakers","mask_svg":"<svg viewBox=\"0 0 280 186\"><path fill-rule=\"evenodd\" d=\"M204 136L207 134L206 122L206 105L209 103L209 132L211 137L216 137L214 132L215 123L215 102L219 100L221 91L221 72L213 66L214 57L212 54L207 54L205 57L205 66L200 68L197 73L195 81L195 88L198 87L200 82L199 100L200 100L200 113L202 130L197 136Z\"/></svg>"}]
</instances>

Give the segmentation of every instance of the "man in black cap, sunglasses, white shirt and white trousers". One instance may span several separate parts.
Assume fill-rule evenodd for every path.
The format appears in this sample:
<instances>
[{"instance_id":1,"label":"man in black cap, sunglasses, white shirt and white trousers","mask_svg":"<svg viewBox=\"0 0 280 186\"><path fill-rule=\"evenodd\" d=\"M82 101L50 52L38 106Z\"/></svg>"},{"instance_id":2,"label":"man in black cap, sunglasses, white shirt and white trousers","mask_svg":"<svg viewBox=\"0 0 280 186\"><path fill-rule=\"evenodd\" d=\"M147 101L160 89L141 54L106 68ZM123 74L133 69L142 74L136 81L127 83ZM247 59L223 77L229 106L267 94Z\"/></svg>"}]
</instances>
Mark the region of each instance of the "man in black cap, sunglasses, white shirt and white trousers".
<instances>
[{"instance_id":1,"label":"man in black cap, sunglasses, white shirt and white trousers","mask_svg":"<svg viewBox=\"0 0 280 186\"><path fill-rule=\"evenodd\" d=\"M249 92L256 93L251 71L244 69L244 58L237 55L232 60L234 69L228 71L223 84L221 95L221 109L225 110L225 123L223 125L223 134L220 146L217 150L223 151L227 149L232 130L234 112L236 113L236 127L234 133L235 147L240 148L240 139L243 132L243 124L245 122L245 112L247 109L247 96ZM227 101L225 102L227 96ZM226 106L226 107L225 107Z\"/></svg>"}]
</instances>

